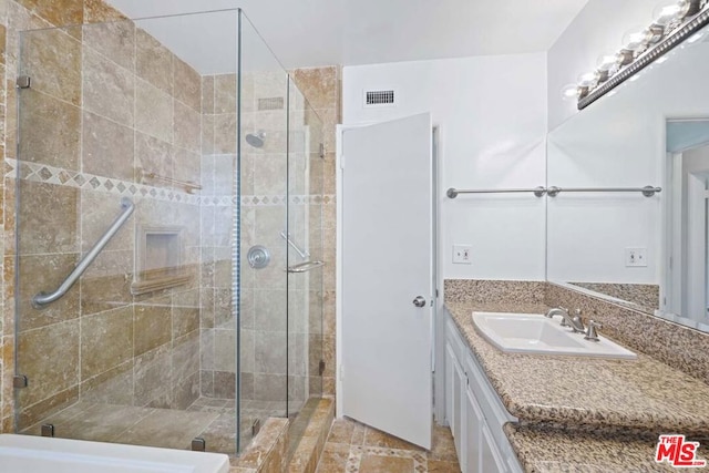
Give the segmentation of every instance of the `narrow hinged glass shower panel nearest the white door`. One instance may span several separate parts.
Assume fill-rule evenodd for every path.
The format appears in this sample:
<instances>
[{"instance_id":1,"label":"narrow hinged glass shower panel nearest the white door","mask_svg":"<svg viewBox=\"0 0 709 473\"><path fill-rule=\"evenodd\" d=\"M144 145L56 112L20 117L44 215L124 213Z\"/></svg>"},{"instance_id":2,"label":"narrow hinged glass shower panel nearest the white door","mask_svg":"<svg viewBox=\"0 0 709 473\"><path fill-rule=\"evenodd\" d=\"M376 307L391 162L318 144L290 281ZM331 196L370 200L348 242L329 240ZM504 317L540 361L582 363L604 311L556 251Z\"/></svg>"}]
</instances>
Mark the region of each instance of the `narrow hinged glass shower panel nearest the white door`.
<instances>
[{"instance_id":1,"label":"narrow hinged glass shower panel nearest the white door","mask_svg":"<svg viewBox=\"0 0 709 473\"><path fill-rule=\"evenodd\" d=\"M322 395L322 122L292 80L288 92L289 454Z\"/></svg>"}]
</instances>

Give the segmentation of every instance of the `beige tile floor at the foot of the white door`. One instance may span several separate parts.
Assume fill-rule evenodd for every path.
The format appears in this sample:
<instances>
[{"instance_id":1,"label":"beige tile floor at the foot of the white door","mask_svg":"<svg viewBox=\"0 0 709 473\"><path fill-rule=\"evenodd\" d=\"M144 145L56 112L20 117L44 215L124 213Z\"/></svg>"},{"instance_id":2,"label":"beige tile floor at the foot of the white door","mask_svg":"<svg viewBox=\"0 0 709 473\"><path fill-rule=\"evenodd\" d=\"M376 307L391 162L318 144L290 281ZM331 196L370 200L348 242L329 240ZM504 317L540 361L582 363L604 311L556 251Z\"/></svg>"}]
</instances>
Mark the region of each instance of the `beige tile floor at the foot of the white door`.
<instances>
[{"instance_id":1,"label":"beige tile floor at the foot of the white door","mask_svg":"<svg viewBox=\"0 0 709 473\"><path fill-rule=\"evenodd\" d=\"M449 428L433 426L425 451L349 419L336 419L318 464L318 473L459 473Z\"/></svg>"}]
</instances>

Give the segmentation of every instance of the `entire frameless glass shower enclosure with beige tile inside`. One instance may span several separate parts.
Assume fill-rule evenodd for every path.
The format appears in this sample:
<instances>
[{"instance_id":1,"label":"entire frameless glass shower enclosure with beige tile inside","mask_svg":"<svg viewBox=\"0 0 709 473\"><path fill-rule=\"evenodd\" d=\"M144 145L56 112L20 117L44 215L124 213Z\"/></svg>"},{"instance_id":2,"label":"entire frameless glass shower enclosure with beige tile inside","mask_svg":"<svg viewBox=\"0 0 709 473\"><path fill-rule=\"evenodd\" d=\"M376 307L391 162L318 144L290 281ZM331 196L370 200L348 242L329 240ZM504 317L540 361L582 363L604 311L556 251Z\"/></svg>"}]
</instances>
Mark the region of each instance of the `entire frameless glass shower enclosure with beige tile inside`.
<instances>
[{"instance_id":1,"label":"entire frameless glass shower enclosure with beige tile inside","mask_svg":"<svg viewBox=\"0 0 709 473\"><path fill-rule=\"evenodd\" d=\"M16 430L237 454L306 412L322 123L244 13L24 31L18 75Z\"/></svg>"}]
</instances>

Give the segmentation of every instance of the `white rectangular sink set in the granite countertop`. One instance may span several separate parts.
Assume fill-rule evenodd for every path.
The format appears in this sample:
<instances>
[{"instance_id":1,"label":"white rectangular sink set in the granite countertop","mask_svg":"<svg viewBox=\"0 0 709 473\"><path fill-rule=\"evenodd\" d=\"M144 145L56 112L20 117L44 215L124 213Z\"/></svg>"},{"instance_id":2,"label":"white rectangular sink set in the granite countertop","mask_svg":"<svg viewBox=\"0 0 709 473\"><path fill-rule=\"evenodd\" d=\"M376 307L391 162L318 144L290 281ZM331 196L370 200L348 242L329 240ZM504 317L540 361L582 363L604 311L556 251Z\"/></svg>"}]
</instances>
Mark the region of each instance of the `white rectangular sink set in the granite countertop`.
<instances>
[{"instance_id":1,"label":"white rectangular sink set in the granite countertop","mask_svg":"<svg viewBox=\"0 0 709 473\"><path fill-rule=\"evenodd\" d=\"M561 354L634 360L633 351L603 336L600 341L584 340L542 313L473 312L473 325L480 335L502 351L514 353Z\"/></svg>"}]
</instances>

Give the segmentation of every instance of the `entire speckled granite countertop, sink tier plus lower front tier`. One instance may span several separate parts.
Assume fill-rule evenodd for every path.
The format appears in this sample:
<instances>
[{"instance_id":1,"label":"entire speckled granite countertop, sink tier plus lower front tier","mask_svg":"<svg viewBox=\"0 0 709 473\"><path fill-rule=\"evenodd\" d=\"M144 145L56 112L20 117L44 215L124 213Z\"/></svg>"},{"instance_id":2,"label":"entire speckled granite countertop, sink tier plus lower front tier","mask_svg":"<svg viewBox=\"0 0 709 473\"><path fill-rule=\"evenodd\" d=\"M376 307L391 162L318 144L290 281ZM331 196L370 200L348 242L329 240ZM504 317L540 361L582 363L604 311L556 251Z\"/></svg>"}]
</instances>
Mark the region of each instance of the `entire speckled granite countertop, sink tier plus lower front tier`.
<instances>
[{"instance_id":1,"label":"entire speckled granite countertop, sink tier plus lower front tier","mask_svg":"<svg viewBox=\"0 0 709 473\"><path fill-rule=\"evenodd\" d=\"M544 313L544 305L446 302L507 411L505 434L525 472L669 472L654 462L659 433L700 441L709 459L709 385L638 353L637 360L504 353L471 313ZM602 333L603 335L603 333Z\"/></svg>"}]
</instances>

